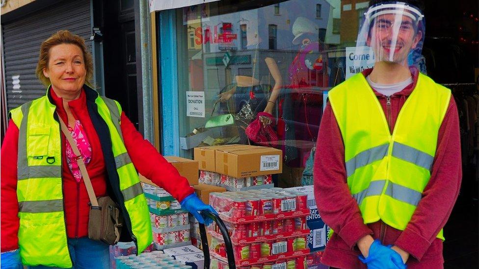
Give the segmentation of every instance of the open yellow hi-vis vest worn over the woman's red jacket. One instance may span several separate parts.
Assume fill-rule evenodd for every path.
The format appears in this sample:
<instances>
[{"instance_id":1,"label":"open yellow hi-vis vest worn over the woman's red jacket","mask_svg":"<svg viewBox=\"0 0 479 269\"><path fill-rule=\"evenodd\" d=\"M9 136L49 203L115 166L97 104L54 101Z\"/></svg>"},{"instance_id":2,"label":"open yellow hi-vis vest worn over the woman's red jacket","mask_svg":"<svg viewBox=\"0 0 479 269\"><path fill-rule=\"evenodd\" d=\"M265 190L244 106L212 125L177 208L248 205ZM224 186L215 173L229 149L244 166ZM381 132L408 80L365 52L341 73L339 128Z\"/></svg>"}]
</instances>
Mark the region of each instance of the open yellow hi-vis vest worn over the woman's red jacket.
<instances>
[{"instance_id":1,"label":"open yellow hi-vis vest worn over the woman's red jacket","mask_svg":"<svg viewBox=\"0 0 479 269\"><path fill-rule=\"evenodd\" d=\"M98 114L109 131L114 166L119 177L120 190L116 191L122 196L116 197L116 200L119 201L124 218L129 218L128 222L131 222L131 225L127 225L130 227L124 229L133 234L132 240L136 243L139 254L151 244L153 236L148 205L138 173L123 143L121 107L114 100L98 96L86 85L84 89L96 95ZM71 268L63 211L61 131L56 120L56 107L48 97L49 90L50 87L46 96L10 111L11 119L19 128L18 241L24 265Z\"/></svg>"}]
</instances>

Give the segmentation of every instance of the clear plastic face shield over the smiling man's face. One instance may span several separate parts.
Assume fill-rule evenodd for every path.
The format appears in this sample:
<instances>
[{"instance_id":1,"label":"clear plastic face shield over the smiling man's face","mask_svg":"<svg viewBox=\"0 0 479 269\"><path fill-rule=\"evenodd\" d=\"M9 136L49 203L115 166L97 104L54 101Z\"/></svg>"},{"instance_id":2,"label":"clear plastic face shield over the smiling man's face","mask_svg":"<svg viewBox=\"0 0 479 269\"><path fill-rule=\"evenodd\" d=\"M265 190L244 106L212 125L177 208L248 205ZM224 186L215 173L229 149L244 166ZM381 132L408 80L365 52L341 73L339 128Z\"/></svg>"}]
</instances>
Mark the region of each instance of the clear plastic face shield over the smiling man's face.
<instances>
[{"instance_id":1,"label":"clear plastic face shield over the smiling man's face","mask_svg":"<svg viewBox=\"0 0 479 269\"><path fill-rule=\"evenodd\" d=\"M370 53L374 62L418 66L424 36L424 15L419 8L403 2L373 5L364 13L355 61L361 61L361 55Z\"/></svg>"}]
</instances>

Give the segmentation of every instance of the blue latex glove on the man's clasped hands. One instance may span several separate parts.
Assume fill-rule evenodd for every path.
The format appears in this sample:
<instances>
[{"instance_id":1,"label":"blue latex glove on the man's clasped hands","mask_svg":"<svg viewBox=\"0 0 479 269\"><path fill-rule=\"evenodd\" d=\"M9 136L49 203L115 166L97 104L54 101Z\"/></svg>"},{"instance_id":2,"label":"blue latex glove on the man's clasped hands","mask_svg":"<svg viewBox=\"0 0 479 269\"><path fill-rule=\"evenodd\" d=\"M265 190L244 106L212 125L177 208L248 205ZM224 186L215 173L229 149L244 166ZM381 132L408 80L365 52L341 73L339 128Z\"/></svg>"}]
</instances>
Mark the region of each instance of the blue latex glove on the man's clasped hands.
<instances>
[{"instance_id":1,"label":"blue latex glove on the man's clasped hands","mask_svg":"<svg viewBox=\"0 0 479 269\"><path fill-rule=\"evenodd\" d=\"M382 245L377 239L369 247L369 256L359 255L359 260L367 264L368 269L406 269L401 255L391 249L391 245Z\"/></svg>"}]
</instances>

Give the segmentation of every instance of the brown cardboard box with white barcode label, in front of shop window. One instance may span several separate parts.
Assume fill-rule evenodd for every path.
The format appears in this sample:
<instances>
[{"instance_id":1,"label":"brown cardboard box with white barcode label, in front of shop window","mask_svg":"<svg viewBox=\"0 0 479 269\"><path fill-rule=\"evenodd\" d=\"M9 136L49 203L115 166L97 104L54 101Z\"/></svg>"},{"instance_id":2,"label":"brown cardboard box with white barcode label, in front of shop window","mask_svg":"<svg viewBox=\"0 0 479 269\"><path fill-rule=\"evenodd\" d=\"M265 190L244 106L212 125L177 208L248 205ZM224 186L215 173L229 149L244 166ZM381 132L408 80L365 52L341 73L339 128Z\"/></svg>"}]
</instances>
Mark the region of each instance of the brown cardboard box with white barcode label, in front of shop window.
<instances>
[{"instance_id":1,"label":"brown cardboard box with white barcode label, in front of shop window","mask_svg":"<svg viewBox=\"0 0 479 269\"><path fill-rule=\"evenodd\" d=\"M273 147L232 147L215 150L216 172L248 177L282 172L283 151Z\"/></svg>"}]
</instances>

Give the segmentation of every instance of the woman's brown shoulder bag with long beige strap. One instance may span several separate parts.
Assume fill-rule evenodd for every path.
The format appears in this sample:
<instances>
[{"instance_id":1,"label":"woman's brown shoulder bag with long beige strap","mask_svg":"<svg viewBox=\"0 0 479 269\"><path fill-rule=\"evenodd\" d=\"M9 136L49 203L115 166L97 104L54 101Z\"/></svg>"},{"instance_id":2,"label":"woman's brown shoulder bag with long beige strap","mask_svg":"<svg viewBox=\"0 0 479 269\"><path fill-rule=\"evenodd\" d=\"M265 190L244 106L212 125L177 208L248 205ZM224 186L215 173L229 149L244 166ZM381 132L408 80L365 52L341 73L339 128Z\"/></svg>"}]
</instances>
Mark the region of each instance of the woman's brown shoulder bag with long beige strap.
<instances>
[{"instance_id":1,"label":"woman's brown shoulder bag with long beige strap","mask_svg":"<svg viewBox=\"0 0 479 269\"><path fill-rule=\"evenodd\" d=\"M67 126L58 115L61 130L72 146L76 155L78 167L81 176L85 182L88 197L90 197L90 220L88 221L88 238L92 240L102 241L108 245L116 245L120 240L121 227L123 226L123 216L121 209L109 196L97 197L91 185L90 176L86 171L83 157L77 144L73 140L72 134L68 131Z\"/></svg>"}]
</instances>

